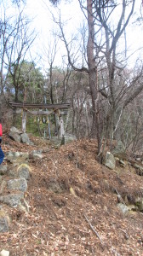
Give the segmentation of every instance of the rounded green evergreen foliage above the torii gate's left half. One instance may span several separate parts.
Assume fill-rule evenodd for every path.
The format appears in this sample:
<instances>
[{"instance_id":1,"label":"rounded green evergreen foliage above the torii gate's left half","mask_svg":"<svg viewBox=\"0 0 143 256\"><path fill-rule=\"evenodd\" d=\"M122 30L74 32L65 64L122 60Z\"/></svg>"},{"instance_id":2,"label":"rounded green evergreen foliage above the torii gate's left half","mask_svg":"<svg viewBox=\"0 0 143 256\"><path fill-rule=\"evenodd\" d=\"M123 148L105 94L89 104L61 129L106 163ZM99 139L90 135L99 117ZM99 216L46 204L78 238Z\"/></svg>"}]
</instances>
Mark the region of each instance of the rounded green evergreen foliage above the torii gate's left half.
<instances>
[{"instance_id":1,"label":"rounded green evergreen foliage above the torii gate's left half","mask_svg":"<svg viewBox=\"0 0 143 256\"><path fill-rule=\"evenodd\" d=\"M43 73L34 62L21 61L19 65L12 64L7 86L14 91L16 100L22 102L25 96L26 102L41 102L43 84Z\"/></svg>"}]
</instances>

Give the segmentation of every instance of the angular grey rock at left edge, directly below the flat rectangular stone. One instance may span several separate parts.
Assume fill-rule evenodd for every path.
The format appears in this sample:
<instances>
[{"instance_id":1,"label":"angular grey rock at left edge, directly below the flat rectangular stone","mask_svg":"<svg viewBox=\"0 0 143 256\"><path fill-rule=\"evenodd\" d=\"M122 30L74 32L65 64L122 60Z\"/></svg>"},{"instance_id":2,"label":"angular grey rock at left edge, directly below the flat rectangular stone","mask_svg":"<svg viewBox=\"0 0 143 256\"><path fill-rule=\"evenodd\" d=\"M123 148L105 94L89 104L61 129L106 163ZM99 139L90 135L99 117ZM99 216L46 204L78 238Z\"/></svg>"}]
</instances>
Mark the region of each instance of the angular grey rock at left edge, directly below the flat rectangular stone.
<instances>
[{"instance_id":1,"label":"angular grey rock at left edge, directly below the flat rectangular stone","mask_svg":"<svg viewBox=\"0 0 143 256\"><path fill-rule=\"evenodd\" d=\"M18 207L21 199L24 198L24 193L10 194L0 196L0 202L9 205L10 207Z\"/></svg>"}]
</instances>

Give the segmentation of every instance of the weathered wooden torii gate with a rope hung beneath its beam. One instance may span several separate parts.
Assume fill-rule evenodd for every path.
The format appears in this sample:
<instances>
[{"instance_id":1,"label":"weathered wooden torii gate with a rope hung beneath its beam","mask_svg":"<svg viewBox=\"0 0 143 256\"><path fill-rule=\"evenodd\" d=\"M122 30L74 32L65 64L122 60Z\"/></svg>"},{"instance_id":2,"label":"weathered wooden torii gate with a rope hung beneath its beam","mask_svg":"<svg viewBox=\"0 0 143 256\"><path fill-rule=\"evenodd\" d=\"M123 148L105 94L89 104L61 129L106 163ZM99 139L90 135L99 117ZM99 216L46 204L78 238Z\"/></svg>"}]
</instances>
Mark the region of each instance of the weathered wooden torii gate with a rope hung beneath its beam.
<instances>
[{"instance_id":1,"label":"weathered wooden torii gate with a rope hung beneath its beam","mask_svg":"<svg viewBox=\"0 0 143 256\"><path fill-rule=\"evenodd\" d=\"M37 104L37 103L20 103L20 102L9 102L9 104L16 108L16 113L22 113L22 131L26 132L26 114L50 114L55 113L60 118L60 137L63 137L65 134L64 130L64 121L62 115L66 113L68 108L70 108L69 103L62 104ZM20 109L17 109L20 108ZM29 110L29 109L38 109L38 110ZM45 109L45 110L40 110ZM50 111L49 111L50 109ZM57 127L57 124L55 124Z\"/></svg>"}]
</instances>

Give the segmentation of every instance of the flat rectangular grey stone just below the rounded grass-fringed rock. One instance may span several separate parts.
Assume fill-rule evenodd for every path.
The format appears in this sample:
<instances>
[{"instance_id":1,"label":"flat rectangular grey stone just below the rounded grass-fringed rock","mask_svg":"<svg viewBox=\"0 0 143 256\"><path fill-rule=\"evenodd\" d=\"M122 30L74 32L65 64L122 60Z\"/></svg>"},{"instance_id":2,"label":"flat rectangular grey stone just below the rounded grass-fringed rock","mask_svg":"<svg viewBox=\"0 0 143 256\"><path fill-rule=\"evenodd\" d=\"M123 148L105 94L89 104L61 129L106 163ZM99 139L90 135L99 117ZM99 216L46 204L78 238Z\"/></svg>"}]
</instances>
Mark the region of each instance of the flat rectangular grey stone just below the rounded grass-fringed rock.
<instances>
[{"instance_id":1,"label":"flat rectangular grey stone just below the rounded grass-fringed rock","mask_svg":"<svg viewBox=\"0 0 143 256\"><path fill-rule=\"evenodd\" d=\"M27 182L25 177L20 177L18 179L10 179L7 183L9 190L21 190L26 191Z\"/></svg>"}]
</instances>

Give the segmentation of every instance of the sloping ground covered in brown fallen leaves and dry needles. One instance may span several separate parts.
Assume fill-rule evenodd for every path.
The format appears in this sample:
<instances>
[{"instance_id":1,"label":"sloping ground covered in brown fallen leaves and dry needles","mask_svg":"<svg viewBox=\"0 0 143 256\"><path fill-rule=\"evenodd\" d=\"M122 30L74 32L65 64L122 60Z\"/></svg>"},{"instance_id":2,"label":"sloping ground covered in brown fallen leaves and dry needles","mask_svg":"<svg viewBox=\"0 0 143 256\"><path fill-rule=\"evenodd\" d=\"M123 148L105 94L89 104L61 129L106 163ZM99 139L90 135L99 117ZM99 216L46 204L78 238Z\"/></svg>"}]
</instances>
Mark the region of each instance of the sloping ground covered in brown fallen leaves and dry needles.
<instances>
[{"instance_id":1,"label":"sloping ground covered in brown fallen leaves and dry needles","mask_svg":"<svg viewBox=\"0 0 143 256\"><path fill-rule=\"evenodd\" d=\"M143 213L117 207L119 202L133 206L142 197L143 177L129 163L115 170L100 165L94 140L60 148L36 137L31 141L34 146L3 136L5 154L42 148L43 158L28 162L29 212L2 206L9 231L0 233L0 251L10 256L143 255ZM5 160L3 165L12 164Z\"/></svg>"}]
</instances>

